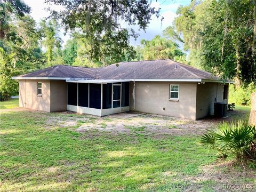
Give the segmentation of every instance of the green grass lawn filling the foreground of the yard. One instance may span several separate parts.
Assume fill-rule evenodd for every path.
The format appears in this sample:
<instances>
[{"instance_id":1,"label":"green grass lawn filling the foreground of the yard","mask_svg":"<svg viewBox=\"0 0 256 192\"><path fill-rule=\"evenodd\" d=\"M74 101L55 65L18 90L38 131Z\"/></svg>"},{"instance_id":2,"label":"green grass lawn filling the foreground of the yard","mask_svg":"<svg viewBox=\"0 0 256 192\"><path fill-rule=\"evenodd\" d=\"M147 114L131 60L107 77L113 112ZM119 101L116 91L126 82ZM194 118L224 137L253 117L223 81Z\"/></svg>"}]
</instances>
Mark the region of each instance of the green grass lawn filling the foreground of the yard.
<instances>
[{"instance_id":1,"label":"green grass lawn filling the foreground of the yard","mask_svg":"<svg viewBox=\"0 0 256 192\"><path fill-rule=\"evenodd\" d=\"M18 103L9 102L1 106ZM65 121L76 123L63 126ZM2 110L1 191L215 191L223 183L256 185L255 170L216 164L215 151L198 145L200 135L159 137L147 124L129 125L127 133L77 131L97 121L105 129L118 120ZM219 180L220 175L228 177Z\"/></svg>"}]
</instances>

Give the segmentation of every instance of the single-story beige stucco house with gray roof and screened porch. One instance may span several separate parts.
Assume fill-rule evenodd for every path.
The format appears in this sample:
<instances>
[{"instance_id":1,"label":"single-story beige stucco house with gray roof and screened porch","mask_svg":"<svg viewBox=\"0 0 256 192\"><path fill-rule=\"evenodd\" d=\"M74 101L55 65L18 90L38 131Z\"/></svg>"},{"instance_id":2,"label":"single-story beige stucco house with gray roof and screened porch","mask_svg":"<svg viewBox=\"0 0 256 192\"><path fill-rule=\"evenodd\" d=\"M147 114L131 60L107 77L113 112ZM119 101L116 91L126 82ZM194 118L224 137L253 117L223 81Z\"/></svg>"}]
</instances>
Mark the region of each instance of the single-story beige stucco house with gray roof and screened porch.
<instances>
[{"instance_id":1,"label":"single-story beige stucco house with gray roof and screened porch","mask_svg":"<svg viewBox=\"0 0 256 192\"><path fill-rule=\"evenodd\" d=\"M105 116L124 111L199 119L228 102L228 83L170 59L87 68L58 65L13 77L19 106Z\"/></svg>"}]
</instances>

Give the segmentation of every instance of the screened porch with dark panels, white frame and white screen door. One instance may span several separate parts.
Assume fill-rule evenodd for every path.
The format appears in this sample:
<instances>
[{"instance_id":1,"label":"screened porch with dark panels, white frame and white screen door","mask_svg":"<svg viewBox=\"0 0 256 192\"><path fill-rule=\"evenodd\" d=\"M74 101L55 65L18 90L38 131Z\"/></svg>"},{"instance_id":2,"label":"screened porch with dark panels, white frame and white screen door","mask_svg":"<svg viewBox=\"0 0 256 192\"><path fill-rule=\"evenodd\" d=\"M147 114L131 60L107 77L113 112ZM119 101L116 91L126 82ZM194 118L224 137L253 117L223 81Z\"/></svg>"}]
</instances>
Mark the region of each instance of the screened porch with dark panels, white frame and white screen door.
<instances>
[{"instance_id":1,"label":"screened porch with dark panels, white frame and white screen door","mask_svg":"<svg viewBox=\"0 0 256 192\"><path fill-rule=\"evenodd\" d=\"M130 82L87 80L67 82L67 109L105 116L130 110Z\"/></svg>"}]
</instances>

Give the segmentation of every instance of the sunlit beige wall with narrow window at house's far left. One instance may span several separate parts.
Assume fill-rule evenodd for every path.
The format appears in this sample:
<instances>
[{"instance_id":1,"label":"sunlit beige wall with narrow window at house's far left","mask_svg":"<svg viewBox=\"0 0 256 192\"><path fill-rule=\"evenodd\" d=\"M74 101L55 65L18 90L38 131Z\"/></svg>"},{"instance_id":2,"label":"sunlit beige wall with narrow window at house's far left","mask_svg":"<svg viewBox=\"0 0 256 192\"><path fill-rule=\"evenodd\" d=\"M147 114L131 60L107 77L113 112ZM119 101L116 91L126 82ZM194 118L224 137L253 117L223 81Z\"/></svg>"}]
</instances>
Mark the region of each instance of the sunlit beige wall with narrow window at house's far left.
<instances>
[{"instance_id":1,"label":"sunlit beige wall with narrow window at house's far left","mask_svg":"<svg viewBox=\"0 0 256 192\"><path fill-rule=\"evenodd\" d=\"M42 95L37 95L37 82L42 82ZM19 106L50 112L50 80L20 80Z\"/></svg>"}]
</instances>

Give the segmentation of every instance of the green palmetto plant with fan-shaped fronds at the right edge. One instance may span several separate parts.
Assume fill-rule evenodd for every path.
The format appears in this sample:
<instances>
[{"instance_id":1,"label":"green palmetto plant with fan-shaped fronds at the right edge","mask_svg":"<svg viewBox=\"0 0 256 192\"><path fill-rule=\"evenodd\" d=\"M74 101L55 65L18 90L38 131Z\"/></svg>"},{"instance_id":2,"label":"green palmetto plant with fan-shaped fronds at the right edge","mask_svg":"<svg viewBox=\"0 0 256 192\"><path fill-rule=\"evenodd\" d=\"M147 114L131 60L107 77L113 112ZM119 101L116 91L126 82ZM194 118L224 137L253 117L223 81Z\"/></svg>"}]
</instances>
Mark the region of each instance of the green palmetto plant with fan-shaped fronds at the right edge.
<instances>
[{"instance_id":1,"label":"green palmetto plant with fan-shaped fronds at the right edge","mask_svg":"<svg viewBox=\"0 0 256 192\"><path fill-rule=\"evenodd\" d=\"M243 120L220 123L217 129L207 131L199 142L217 149L217 159L235 156L241 163L243 159L256 163L256 129Z\"/></svg>"}]
</instances>

